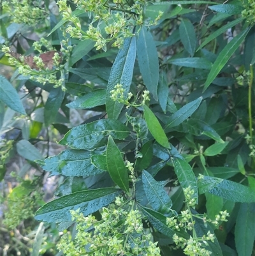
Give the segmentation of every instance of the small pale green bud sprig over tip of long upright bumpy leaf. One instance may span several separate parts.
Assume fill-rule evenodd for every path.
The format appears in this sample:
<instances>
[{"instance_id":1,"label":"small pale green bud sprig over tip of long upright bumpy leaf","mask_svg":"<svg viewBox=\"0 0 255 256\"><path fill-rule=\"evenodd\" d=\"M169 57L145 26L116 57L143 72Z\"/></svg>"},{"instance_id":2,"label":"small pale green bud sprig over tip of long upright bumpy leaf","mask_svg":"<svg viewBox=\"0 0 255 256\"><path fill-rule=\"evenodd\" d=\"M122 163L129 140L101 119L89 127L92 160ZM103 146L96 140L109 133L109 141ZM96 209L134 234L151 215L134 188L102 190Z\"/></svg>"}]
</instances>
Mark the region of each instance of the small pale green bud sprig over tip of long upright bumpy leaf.
<instances>
[{"instance_id":1,"label":"small pale green bud sprig over tip of long upright bumpy leaf","mask_svg":"<svg viewBox=\"0 0 255 256\"><path fill-rule=\"evenodd\" d=\"M119 103L122 103L124 105L127 105L127 109L129 107L140 107L140 106L143 106L145 105L145 103L147 101L150 100L149 98L149 94L150 92L149 91L143 91L143 94L142 94L142 103L140 104L135 104L135 103L130 103L129 100L131 100L131 98L133 97L133 93L128 93L128 96L125 96L127 93L126 91L124 90L122 84L117 84L114 89L111 91L111 96L110 98L112 98L112 100L115 102L119 102Z\"/></svg>"}]
</instances>

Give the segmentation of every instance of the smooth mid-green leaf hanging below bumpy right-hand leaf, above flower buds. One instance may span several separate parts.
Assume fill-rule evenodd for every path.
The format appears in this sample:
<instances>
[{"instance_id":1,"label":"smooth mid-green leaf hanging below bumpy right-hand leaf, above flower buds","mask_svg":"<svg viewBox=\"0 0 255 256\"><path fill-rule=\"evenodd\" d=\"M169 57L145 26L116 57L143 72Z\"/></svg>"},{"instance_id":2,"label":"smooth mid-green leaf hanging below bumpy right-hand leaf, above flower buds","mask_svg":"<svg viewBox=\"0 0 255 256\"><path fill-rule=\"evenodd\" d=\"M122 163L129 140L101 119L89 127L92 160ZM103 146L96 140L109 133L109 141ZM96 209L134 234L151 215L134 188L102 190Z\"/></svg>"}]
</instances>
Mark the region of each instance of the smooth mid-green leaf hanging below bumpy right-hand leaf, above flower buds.
<instances>
[{"instance_id":1,"label":"smooth mid-green leaf hanging below bumpy right-hand leaf, above flower buds","mask_svg":"<svg viewBox=\"0 0 255 256\"><path fill-rule=\"evenodd\" d=\"M205 206L207 207L207 216L211 220L214 220L215 215L218 215L219 211L222 211L223 199L222 197L212 195L208 192L205 193L205 198L207 199L207 203L205 204Z\"/></svg>"}]
</instances>

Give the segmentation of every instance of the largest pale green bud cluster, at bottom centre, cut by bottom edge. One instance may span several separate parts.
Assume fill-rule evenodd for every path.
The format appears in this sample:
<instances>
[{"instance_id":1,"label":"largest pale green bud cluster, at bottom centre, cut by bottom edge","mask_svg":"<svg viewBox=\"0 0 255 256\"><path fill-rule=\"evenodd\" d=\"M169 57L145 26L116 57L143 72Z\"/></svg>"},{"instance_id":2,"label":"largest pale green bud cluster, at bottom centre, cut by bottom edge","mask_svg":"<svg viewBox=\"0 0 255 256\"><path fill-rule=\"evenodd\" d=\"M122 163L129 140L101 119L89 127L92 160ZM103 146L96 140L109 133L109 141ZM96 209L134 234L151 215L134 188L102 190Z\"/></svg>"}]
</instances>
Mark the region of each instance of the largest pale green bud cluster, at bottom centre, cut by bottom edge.
<instances>
[{"instance_id":1,"label":"largest pale green bud cluster, at bottom centre, cut by bottom edge","mask_svg":"<svg viewBox=\"0 0 255 256\"><path fill-rule=\"evenodd\" d=\"M142 216L138 209L132 209L132 204L117 197L115 205L119 207L103 207L102 220L92 215L85 217L79 210L70 211L77 223L77 234L72 241L68 233L64 234L57 247L66 256L159 256L157 243L152 242L151 234L143 234Z\"/></svg>"}]
</instances>

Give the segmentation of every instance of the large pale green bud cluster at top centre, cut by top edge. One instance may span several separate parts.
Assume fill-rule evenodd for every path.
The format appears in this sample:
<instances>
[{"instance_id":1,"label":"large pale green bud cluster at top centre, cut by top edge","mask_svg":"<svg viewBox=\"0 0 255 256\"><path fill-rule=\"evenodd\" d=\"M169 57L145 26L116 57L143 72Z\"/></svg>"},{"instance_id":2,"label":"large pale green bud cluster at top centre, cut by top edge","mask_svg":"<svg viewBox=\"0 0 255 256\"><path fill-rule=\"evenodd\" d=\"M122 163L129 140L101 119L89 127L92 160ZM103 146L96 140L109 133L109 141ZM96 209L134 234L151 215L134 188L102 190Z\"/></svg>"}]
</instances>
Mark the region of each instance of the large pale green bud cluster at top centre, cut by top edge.
<instances>
[{"instance_id":1,"label":"large pale green bud cluster at top centre, cut by top edge","mask_svg":"<svg viewBox=\"0 0 255 256\"><path fill-rule=\"evenodd\" d=\"M64 20L71 22L66 31L73 38L80 40L90 39L96 41L95 47L97 50L107 50L106 43L113 41L112 46L121 48L124 43L124 38L134 36L133 29L141 27L142 25L154 26L162 17L163 13L159 11L159 15L155 20L145 19L143 10L147 1L138 0L132 5L128 1L110 1L110 0L73 0L76 4L77 10L84 10L89 13L89 18L93 18L89 29L82 30L82 24L77 16L75 16L71 8L67 5L66 0L59 0L59 11L62 13ZM98 22L98 26L94 27L94 22ZM105 33L103 36L100 29L100 24L105 23ZM136 31L136 33L138 33Z\"/></svg>"}]
</instances>

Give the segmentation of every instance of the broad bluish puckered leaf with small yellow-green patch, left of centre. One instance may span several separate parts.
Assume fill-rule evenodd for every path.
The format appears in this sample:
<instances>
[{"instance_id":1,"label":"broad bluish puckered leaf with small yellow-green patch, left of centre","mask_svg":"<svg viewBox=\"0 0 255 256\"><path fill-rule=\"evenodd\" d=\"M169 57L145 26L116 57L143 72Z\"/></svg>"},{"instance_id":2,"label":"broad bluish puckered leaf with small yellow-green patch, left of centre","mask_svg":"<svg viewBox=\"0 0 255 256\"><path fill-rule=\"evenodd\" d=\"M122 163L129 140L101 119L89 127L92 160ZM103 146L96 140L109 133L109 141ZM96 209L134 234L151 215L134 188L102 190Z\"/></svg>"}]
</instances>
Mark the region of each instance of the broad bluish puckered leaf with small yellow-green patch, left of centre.
<instances>
[{"instance_id":1,"label":"broad bluish puckered leaf with small yellow-green patch, left of centre","mask_svg":"<svg viewBox=\"0 0 255 256\"><path fill-rule=\"evenodd\" d=\"M51 172L52 175L64 176L92 176L100 174L99 170L91 163L92 154L85 150L65 150L57 156L45 159L43 170Z\"/></svg>"}]
</instances>

